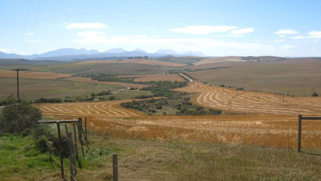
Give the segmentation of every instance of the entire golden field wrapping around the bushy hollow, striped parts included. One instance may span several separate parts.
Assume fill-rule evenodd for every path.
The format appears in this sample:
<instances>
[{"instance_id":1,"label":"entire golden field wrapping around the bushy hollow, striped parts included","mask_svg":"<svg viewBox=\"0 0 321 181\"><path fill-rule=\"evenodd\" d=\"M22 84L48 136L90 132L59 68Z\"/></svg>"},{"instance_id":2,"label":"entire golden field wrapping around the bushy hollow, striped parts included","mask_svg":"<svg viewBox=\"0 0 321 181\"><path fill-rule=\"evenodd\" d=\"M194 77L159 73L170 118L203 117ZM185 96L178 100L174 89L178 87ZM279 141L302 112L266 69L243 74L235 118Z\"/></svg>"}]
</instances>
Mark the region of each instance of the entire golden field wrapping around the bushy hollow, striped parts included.
<instances>
[{"instance_id":1,"label":"entire golden field wrapping around the bushy hollow, striped parts included","mask_svg":"<svg viewBox=\"0 0 321 181\"><path fill-rule=\"evenodd\" d=\"M88 127L115 138L181 140L227 144L296 148L298 114L320 116L321 99L288 97L222 87L204 87L191 82L179 91L198 93L195 103L228 113L222 116L147 116L125 109L126 100L41 104L45 116L53 119L86 117ZM132 101L132 100L127 100ZM161 110L159 110L161 111ZM321 124L303 120L302 148L321 148Z\"/></svg>"}]
</instances>

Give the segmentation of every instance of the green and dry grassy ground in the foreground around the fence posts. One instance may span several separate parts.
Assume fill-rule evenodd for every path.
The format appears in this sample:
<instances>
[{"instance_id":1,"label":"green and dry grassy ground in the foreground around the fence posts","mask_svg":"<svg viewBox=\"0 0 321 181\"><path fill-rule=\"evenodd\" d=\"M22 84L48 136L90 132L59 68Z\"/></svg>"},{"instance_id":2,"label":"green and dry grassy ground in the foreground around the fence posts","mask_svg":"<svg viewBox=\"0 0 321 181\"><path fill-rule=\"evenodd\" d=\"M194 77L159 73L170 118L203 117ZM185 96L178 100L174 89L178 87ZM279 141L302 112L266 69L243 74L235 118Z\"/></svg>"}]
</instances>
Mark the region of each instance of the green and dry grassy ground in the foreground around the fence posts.
<instances>
[{"instance_id":1,"label":"green and dry grassy ground in the foreground around the fence posts","mask_svg":"<svg viewBox=\"0 0 321 181\"><path fill-rule=\"evenodd\" d=\"M181 141L114 139L89 135L76 180L320 180L321 150L277 149ZM313 152L309 154L307 152ZM316 154L317 153L317 154ZM60 167L40 154L30 136L0 137L0 180L62 180ZM59 158L54 157L58 162ZM69 165L65 160L65 176Z\"/></svg>"}]
</instances>

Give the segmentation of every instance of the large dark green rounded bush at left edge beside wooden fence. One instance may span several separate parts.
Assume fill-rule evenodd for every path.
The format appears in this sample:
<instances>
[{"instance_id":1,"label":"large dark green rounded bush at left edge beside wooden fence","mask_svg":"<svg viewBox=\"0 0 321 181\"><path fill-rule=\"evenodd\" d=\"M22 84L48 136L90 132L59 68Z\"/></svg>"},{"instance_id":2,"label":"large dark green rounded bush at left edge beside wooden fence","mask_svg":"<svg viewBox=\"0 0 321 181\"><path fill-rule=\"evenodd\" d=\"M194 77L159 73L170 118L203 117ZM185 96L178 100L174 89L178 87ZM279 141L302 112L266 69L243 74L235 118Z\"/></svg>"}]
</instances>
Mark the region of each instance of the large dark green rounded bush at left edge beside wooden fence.
<instances>
[{"instance_id":1,"label":"large dark green rounded bush at left edge beside wooden fence","mask_svg":"<svg viewBox=\"0 0 321 181\"><path fill-rule=\"evenodd\" d=\"M21 99L11 100L1 110L0 133L21 133L25 129L33 129L36 127L36 121L41 118L42 114L38 106Z\"/></svg>"}]
</instances>

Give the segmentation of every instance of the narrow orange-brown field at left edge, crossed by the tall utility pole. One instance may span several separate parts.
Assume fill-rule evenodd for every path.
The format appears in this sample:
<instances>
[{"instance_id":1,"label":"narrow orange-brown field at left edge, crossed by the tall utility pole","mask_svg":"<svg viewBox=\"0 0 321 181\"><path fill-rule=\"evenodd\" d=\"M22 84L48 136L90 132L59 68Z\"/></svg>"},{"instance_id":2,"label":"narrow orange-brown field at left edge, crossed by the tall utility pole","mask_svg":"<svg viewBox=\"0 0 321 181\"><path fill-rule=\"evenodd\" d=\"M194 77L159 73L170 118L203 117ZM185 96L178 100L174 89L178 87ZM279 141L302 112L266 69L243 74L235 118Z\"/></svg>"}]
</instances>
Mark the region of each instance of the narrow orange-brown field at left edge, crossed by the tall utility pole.
<instances>
[{"instance_id":1,"label":"narrow orange-brown field at left edge, crossed by the tall utility pole","mask_svg":"<svg viewBox=\"0 0 321 181\"><path fill-rule=\"evenodd\" d=\"M59 78L71 77L73 75L74 74L67 74L67 73L19 71L19 78L26 78L26 79L59 79ZM17 71L0 70L0 77L15 78L17 77Z\"/></svg>"}]
</instances>

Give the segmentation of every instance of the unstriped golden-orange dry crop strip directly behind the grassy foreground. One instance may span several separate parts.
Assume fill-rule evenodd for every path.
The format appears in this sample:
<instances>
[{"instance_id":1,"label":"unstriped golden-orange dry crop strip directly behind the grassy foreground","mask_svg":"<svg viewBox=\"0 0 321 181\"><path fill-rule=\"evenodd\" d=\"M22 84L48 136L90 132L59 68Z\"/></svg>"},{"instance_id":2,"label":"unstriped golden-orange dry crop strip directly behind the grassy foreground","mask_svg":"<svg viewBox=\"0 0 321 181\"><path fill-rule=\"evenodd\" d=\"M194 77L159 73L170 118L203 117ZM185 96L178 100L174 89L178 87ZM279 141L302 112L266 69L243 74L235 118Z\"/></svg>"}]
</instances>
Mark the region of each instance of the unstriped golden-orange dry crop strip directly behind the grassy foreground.
<instances>
[{"instance_id":1,"label":"unstriped golden-orange dry crop strip directly behind the grassy foreground","mask_svg":"<svg viewBox=\"0 0 321 181\"><path fill-rule=\"evenodd\" d=\"M154 139L296 148L296 115L87 117L97 134L113 138ZM321 148L321 125L302 124L302 148Z\"/></svg>"}]
</instances>

